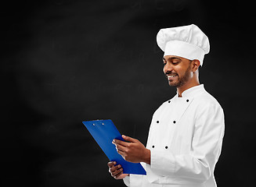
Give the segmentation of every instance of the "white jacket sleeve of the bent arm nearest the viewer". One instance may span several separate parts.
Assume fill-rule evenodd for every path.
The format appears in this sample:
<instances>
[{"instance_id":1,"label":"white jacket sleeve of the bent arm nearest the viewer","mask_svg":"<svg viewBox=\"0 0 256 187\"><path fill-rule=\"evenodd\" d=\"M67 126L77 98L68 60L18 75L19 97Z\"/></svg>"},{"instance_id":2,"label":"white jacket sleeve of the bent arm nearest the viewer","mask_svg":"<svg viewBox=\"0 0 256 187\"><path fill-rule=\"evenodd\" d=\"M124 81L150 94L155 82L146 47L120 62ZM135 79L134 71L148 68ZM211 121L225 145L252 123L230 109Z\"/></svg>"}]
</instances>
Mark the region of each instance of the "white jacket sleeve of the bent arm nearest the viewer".
<instances>
[{"instance_id":1,"label":"white jacket sleeve of the bent arm nearest the viewer","mask_svg":"<svg viewBox=\"0 0 256 187\"><path fill-rule=\"evenodd\" d=\"M184 182L182 178L188 182L204 182L211 177L221 152L224 114L219 104L202 107L195 116L190 150L174 154L152 149L150 169L153 173L178 178L178 183Z\"/></svg>"}]
</instances>

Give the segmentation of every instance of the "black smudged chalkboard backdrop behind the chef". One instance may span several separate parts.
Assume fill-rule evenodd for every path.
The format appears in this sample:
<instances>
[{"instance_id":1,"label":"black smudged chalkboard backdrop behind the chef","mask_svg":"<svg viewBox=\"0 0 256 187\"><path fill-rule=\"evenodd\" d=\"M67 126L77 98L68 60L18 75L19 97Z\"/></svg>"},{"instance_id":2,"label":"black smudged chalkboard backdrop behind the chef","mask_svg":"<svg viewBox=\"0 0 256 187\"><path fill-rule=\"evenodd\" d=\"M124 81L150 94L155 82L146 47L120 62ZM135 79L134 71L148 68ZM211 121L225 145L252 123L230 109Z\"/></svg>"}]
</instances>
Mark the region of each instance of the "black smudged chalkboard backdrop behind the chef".
<instances>
[{"instance_id":1,"label":"black smudged chalkboard backdrop behind the chef","mask_svg":"<svg viewBox=\"0 0 256 187\"><path fill-rule=\"evenodd\" d=\"M230 2L230 1L229 1ZM175 94L162 72L160 28L197 24L211 51L200 83L222 104L219 187L254 178L254 17L246 1L5 2L1 11L1 182L124 186L83 120L111 118L146 145L151 117Z\"/></svg>"}]
</instances>

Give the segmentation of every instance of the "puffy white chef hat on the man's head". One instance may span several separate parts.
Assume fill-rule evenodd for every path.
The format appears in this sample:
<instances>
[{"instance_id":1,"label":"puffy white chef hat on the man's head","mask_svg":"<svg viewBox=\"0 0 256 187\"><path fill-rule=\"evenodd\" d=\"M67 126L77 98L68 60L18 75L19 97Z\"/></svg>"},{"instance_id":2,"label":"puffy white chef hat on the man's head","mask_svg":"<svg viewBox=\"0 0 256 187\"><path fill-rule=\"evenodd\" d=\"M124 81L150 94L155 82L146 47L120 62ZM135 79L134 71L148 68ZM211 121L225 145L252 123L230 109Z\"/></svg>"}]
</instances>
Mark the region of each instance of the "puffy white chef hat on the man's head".
<instances>
[{"instance_id":1,"label":"puffy white chef hat on the man's head","mask_svg":"<svg viewBox=\"0 0 256 187\"><path fill-rule=\"evenodd\" d=\"M157 44L165 55L189 60L197 59L203 65L204 54L210 51L208 37L194 24L159 30Z\"/></svg>"}]
</instances>

